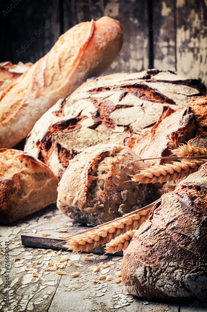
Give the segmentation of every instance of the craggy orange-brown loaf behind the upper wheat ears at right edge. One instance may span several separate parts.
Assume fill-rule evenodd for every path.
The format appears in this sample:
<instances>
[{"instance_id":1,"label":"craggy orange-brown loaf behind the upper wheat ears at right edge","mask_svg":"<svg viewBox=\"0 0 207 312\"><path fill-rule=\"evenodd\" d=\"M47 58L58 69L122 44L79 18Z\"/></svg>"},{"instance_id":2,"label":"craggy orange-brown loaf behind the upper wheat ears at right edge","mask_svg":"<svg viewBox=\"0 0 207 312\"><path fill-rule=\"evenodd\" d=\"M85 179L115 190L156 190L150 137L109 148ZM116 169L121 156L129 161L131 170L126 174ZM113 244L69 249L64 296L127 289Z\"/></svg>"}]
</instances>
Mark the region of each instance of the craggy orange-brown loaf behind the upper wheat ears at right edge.
<instances>
[{"instance_id":1,"label":"craggy orange-brown loaf behind the upper wheat ears at right edge","mask_svg":"<svg viewBox=\"0 0 207 312\"><path fill-rule=\"evenodd\" d=\"M166 157L179 144L194 137L206 137L207 97L201 96L190 101L177 111L164 107L163 112L152 127L142 137L131 137L127 146L141 158ZM170 161L169 161L170 162ZM146 160L147 166L166 163L166 159Z\"/></svg>"}]
</instances>

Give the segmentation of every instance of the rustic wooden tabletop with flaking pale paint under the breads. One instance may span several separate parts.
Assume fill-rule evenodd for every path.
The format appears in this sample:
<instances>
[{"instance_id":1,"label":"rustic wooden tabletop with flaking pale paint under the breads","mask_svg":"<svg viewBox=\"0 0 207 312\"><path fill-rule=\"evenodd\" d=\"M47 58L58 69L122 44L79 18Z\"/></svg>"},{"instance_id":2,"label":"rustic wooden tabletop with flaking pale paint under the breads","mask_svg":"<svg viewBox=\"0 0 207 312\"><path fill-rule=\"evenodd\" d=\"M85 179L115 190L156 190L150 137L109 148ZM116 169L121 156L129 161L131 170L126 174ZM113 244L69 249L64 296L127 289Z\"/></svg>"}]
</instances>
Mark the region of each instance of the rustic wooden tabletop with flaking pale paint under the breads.
<instances>
[{"instance_id":1,"label":"rustic wooden tabletop with flaking pale paint under the breads","mask_svg":"<svg viewBox=\"0 0 207 312\"><path fill-rule=\"evenodd\" d=\"M60 217L61 212L54 207L47 207L42 211L26 217L10 226L0 228L1 259L0 259L0 311L48 311L48 312L190 312L207 311L207 303L203 297L187 301L145 300L128 294L117 276L121 267L121 256L94 254L90 260L83 260L86 254L74 254L62 251L56 256L46 250L36 250L33 247L22 246L20 232L26 232L32 227L39 227L44 222ZM5 241L8 243L5 243ZM5 245L6 244L6 245ZM9 247L9 270L5 268L5 247ZM62 262L65 275L58 275L55 271L44 271L49 261L60 257L70 256ZM19 258L19 261L15 259ZM105 258L105 259L104 259ZM41 261L37 264L37 261ZM67 265L71 262L71 266ZM75 266L81 264L82 266ZM108 268L101 265L109 264ZM6 263L7 265L7 263ZM89 270L90 266L99 266L97 273ZM36 269L38 277L33 277ZM58 269L59 270L59 269ZM79 271L78 277L69 274ZM102 275L110 276L111 280L99 280ZM9 288L6 288L9 278ZM98 281L98 284L93 281ZM6 291L9 291L7 293ZM6 305L7 294L9 304ZM5 299L5 300L4 300Z\"/></svg>"}]
</instances>

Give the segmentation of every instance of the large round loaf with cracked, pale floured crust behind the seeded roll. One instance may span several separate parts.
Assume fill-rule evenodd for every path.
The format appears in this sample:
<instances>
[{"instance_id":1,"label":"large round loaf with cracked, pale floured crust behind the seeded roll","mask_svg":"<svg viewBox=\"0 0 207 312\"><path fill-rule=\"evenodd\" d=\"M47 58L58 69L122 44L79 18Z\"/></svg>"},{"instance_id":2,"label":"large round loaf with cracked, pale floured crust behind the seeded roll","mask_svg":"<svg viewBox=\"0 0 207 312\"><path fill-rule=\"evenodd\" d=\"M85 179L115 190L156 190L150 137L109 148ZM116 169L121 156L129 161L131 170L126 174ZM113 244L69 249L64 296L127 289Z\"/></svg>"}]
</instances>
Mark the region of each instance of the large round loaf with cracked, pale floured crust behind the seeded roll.
<instances>
[{"instance_id":1,"label":"large round loaf with cracked, pale floured crust behind the seeded roll","mask_svg":"<svg viewBox=\"0 0 207 312\"><path fill-rule=\"evenodd\" d=\"M36 122L25 151L61 178L69 160L87 147L123 145L126 137L139 137L151 129L166 105L174 111L205 94L198 84L159 70L88 80Z\"/></svg>"}]
</instances>

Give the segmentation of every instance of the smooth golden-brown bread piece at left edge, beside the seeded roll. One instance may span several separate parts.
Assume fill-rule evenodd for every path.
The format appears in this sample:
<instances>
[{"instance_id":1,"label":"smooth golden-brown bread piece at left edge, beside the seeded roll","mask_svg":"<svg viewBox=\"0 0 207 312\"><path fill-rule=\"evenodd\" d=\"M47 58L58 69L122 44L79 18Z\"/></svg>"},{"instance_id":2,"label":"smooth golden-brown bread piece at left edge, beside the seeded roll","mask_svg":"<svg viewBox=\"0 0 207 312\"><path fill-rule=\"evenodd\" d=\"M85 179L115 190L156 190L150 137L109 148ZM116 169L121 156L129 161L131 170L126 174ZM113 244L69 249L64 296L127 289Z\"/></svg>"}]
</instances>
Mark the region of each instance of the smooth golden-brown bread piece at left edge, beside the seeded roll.
<instances>
[{"instance_id":1,"label":"smooth golden-brown bread piece at left edge, beside the seeded roll","mask_svg":"<svg viewBox=\"0 0 207 312\"><path fill-rule=\"evenodd\" d=\"M56 202L58 179L41 161L0 149L0 222L12 223Z\"/></svg>"}]
</instances>

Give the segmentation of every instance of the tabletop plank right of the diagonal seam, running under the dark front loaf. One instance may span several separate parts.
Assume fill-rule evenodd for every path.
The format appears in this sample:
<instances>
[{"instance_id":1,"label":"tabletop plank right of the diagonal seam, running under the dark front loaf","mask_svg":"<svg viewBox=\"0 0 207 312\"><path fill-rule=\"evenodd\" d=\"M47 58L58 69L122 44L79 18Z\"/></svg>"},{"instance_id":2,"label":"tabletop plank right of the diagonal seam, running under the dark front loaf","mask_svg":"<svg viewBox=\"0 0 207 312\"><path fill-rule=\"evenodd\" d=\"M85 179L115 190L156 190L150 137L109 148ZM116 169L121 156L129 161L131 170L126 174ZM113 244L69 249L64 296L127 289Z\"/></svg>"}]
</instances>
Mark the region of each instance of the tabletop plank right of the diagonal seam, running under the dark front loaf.
<instances>
[{"instance_id":1,"label":"tabletop plank right of the diagonal seam, running under the dark front loaf","mask_svg":"<svg viewBox=\"0 0 207 312\"><path fill-rule=\"evenodd\" d=\"M163 300L145 300L130 295L124 290L122 281L115 283L115 280L120 279L117 277L116 272L120 271L122 258L118 260L113 256L108 256L107 259L102 260L100 256L93 256L91 261L81 261L82 267L72 266L65 269L66 275L63 275L55 296L51 302L48 312L160 312L160 311L173 311L178 312L178 303L167 302ZM102 264L108 264L107 269L102 269ZM97 274L88 270L89 266L98 265L100 270ZM77 270L78 269L78 270ZM88 271L87 271L88 270ZM105 270L111 280L99 280ZM80 271L79 277L70 278L69 272ZM70 273L69 273L70 274ZM94 284L93 280L99 280L99 284Z\"/></svg>"}]
</instances>

